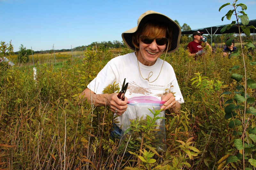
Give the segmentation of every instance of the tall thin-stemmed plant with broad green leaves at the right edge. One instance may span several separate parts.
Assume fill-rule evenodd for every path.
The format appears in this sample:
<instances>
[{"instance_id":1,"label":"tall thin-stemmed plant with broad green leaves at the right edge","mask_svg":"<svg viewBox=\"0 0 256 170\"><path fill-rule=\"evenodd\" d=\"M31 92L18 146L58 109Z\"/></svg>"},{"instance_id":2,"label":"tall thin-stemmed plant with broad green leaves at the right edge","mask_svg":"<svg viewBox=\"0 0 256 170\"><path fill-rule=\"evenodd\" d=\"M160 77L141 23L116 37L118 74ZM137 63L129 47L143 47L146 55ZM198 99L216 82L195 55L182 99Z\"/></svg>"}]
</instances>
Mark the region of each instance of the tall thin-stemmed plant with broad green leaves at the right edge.
<instances>
[{"instance_id":1,"label":"tall thin-stemmed plant with broad green leaves at the right edge","mask_svg":"<svg viewBox=\"0 0 256 170\"><path fill-rule=\"evenodd\" d=\"M255 48L252 44L252 41L242 40L241 34L244 33L246 36L250 36L250 29L255 29L254 26L247 26L249 23L249 18L244 12L247 9L245 4L237 4L237 1L234 1L233 4L227 3L222 5L219 8L219 11L226 7L231 6L231 10L222 17L226 17L228 20L231 20L231 17L234 16L236 19L231 22L231 24L223 27L221 32L230 29L232 26L238 27L238 36L230 38L227 41L227 45L230 46L233 39L236 39L241 44L241 49L236 50L230 57L241 57L242 64L244 68L243 73L233 73L231 78L237 82L235 92L223 92L222 94L230 95L231 99L227 100L224 104L225 107L225 119L229 121L228 127L232 129L233 133L233 144L235 148L230 154L225 155L221 161L219 160L219 167L229 167L230 165L233 168L238 169L255 169L256 167L256 127L255 127L255 116L256 109L254 108L255 103L255 89L256 83L253 79L247 78L246 70L249 61L250 66L256 65L255 59L251 55L245 55L244 49L242 48L242 43L245 43L245 46L248 48ZM242 11L237 11L238 8L241 8ZM240 24L240 22L242 25ZM232 36L234 33L229 34ZM232 67L232 70L237 70L239 66ZM232 98L233 97L233 98ZM225 162L225 163L224 163ZM238 167L236 167L238 166Z\"/></svg>"}]
</instances>

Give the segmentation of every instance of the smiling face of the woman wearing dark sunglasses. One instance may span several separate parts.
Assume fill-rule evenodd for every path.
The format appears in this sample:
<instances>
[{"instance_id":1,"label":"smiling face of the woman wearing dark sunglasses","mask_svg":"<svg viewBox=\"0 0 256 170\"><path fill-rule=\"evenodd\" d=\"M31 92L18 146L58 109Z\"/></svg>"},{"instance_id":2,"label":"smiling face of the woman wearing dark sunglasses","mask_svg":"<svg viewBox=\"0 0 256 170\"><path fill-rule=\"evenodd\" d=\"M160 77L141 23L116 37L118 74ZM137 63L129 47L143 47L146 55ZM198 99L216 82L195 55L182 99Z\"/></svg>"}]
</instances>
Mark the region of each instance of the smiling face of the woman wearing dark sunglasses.
<instances>
[{"instance_id":1,"label":"smiling face of the woman wearing dark sunglasses","mask_svg":"<svg viewBox=\"0 0 256 170\"><path fill-rule=\"evenodd\" d=\"M163 37L165 37L164 34L156 38L163 38ZM144 65L152 66L156 63L156 59L159 58L160 55L164 52L166 44L157 45L156 39L154 39L151 44L145 44L141 41L141 39L139 39L139 46L140 46L140 51L137 56L138 60L140 61L140 63Z\"/></svg>"}]
</instances>

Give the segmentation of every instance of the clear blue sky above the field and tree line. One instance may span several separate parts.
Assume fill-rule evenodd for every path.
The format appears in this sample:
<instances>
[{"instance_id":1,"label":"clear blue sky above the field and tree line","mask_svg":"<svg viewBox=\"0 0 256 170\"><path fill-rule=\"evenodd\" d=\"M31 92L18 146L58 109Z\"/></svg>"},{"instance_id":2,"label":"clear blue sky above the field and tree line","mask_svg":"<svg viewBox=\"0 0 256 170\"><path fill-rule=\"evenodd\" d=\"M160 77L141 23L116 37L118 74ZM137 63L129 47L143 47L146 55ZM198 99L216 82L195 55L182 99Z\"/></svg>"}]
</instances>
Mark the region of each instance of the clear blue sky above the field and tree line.
<instances>
[{"instance_id":1,"label":"clear blue sky above the field and tree line","mask_svg":"<svg viewBox=\"0 0 256 170\"><path fill-rule=\"evenodd\" d=\"M0 0L0 41L12 40L14 51L22 44L34 51L70 49L98 41L122 41L121 34L136 26L139 16L157 11L188 24L192 30L229 24L221 18L233 0ZM256 19L256 0L238 0ZM240 11L241 8L238 9ZM233 18L235 19L235 18Z\"/></svg>"}]
</instances>

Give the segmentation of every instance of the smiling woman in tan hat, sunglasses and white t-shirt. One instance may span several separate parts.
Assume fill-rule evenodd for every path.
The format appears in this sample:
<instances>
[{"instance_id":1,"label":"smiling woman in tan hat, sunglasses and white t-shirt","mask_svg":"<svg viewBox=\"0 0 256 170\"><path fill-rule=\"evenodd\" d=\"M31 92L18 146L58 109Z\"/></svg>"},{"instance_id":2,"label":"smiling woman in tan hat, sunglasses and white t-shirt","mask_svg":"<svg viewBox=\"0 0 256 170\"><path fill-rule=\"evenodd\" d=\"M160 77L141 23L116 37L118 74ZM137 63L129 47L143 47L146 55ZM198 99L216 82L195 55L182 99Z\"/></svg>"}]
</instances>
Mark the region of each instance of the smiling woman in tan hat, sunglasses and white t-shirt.
<instances>
[{"instance_id":1,"label":"smiling woman in tan hat, sunglasses and white t-shirt","mask_svg":"<svg viewBox=\"0 0 256 170\"><path fill-rule=\"evenodd\" d=\"M108 105L114 116L119 115L117 128L122 127L127 101L132 97L157 97L165 102L161 109L177 113L184 100L172 66L159 57L178 50L180 35L180 27L172 19L146 11L136 27L122 33L124 43L134 52L111 59L81 96L94 106ZM103 89L114 82L121 87L124 78L129 83L124 101L117 93L103 94Z\"/></svg>"}]
</instances>

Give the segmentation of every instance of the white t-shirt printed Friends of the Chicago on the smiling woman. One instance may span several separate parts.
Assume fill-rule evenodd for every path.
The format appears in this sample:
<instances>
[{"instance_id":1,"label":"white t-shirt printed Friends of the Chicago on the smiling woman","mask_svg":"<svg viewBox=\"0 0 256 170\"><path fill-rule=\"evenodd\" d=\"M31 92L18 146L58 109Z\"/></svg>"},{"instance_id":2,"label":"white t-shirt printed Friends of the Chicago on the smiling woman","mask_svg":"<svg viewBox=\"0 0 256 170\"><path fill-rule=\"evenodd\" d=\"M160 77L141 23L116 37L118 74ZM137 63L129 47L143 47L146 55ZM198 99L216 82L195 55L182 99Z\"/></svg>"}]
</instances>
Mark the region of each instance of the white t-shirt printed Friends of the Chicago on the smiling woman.
<instances>
[{"instance_id":1,"label":"white t-shirt printed Friends of the Chicago on the smiling woman","mask_svg":"<svg viewBox=\"0 0 256 170\"><path fill-rule=\"evenodd\" d=\"M116 84L119 84L121 90L124 78L126 78L125 83L129 84L125 97L128 99L138 96L153 96L161 100L161 96L163 96L165 91L169 92L172 85L171 92L175 93L175 100L183 103L184 100L174 70L171 64L167 62L164 62L161 70L163 62L160 58L152 66L146 66L139 62L139 71L135 52L121 55L111 59L87 87L96 94L103 94L102 91L104 88L116 82ZM153 75L149 78L149 82L154 81L161 71L159 77L152 83L143 79L148 78L150 71L153 72ZM140 72L143 78L141 78ZM120 124L122 124L122 115L118 116L118 119Z\"/></svg>"}]
</instances>

